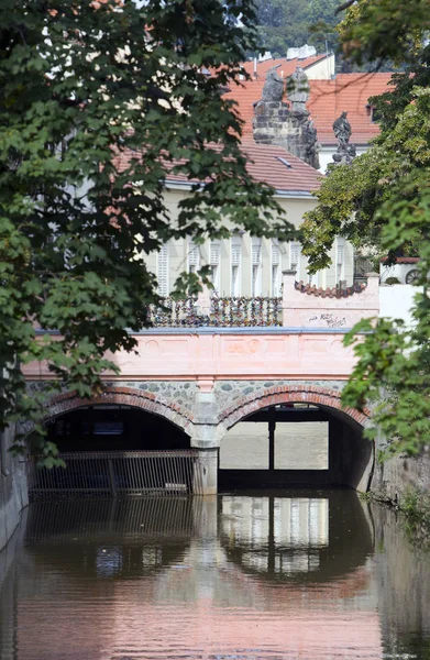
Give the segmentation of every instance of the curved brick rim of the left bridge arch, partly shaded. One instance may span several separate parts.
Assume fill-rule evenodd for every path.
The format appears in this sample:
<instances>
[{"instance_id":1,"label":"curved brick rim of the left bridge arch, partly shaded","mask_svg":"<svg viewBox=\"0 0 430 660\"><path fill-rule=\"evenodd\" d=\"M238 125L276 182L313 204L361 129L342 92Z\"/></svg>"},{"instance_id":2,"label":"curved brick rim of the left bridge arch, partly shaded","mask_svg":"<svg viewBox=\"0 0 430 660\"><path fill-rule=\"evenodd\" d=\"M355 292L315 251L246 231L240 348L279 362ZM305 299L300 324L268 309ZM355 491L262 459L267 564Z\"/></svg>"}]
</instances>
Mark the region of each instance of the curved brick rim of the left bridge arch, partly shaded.
<instances>
[{"instance_id":1,"label":"curved brick rim of the left bridge arch, partly shaded","mask_svg":"<svg viewBox=\"0 0 430 660\"><path fill-rule=\"evenodd\" d=\"M109 386L102 393L90 398L77 396L76 392L67 392L55 396L47 405L44 421L58 417L64 413L70 413L84 406L97 406L103 404L113 404L140 408L146 413L153 413L164 417L176 425L183 431L191 435L192 413L184 406L174 402L163 399L158 394L139 389L134 387Z\"/></svg>"}]
</instances>

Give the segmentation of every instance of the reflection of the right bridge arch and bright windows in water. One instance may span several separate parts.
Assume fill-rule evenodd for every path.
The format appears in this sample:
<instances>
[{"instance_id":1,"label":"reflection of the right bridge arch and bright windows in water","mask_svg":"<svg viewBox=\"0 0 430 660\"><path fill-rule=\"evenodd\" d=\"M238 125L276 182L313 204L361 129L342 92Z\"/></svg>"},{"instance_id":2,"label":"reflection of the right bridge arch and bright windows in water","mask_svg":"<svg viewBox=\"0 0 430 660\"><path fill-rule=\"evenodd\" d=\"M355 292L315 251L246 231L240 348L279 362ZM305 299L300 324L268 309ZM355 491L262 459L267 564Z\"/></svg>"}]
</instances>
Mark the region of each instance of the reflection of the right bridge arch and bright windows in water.
<instances>
[{"instance_id":1,"label":"reflection of the right bridge arch and bright windows in water","mask_svg":"<svg viewBox=\"0 0 430 660\"><path fill-rule=\"evenodd\" d=\"M221 507L229 559L266 580L331 580L364 564L373 550L370 518L349 492L224 496Z\"/></svg>"}]
</instances>

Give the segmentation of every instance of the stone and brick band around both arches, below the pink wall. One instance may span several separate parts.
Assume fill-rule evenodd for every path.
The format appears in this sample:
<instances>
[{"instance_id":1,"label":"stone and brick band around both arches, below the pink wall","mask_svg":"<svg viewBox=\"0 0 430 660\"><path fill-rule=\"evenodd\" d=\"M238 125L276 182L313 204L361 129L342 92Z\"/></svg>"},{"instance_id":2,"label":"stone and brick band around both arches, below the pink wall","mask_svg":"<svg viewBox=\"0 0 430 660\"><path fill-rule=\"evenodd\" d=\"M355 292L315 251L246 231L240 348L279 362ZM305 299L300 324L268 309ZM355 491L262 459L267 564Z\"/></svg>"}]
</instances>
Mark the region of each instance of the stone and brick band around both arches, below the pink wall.
<instances>
[{"instance_id":1,"label":"stone and brick band around both arches, below the pink wall","mask_svg":"<svg viewBox=\"0 0 430 660\"><path fill-rule=\"evenodd\" d=\"M345 381L217 381L209 388L196 381L144 381L107 383L102 394L82 399L66 392L54 397L46 419L88 405L117 404L159 415L190 436L191 447L220 446L222 436L241 419L267 406L308 403L341 411L362 427L370 411L342 408ZM29 383L43 387L43 383Z\"/></svg>"}]
</instances>

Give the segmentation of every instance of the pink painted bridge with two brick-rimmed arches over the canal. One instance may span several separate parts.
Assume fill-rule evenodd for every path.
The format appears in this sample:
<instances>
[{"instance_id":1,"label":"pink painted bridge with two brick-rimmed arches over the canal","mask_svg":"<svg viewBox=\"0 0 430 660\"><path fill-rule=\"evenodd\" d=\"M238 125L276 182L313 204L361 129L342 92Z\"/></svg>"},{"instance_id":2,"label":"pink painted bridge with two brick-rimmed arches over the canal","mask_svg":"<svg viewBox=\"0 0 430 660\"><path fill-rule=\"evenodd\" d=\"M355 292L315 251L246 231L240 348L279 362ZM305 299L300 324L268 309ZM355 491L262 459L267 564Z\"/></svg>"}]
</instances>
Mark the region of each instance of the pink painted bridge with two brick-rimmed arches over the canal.
<instances>
[{"instance_id":1,"label":"pink painted bridge with two brick-rimmed arches over the canal","mask_svg":"<svg viewBox=\"0 0 430 660\"><path fill-rule=\"evenodd\" d=\"M378 315L378 277L370 275L365 288L350 288L342 295L297 284L294 273L286 273L283 284L283 297L272 315L278 310L282 319L275 322L282 324L212 323L142 331L136 336L137 354L120 352L111 356L120 374L106 374L106 389L100 396L82 400L74 393L65 393L49 403L46 420L53 422L53 439L60 447L64 441L70 450L67 442L76 436L74 425L80 419L80 438L88 425L96 444L97 435L99 439L120 437L121 429L128 428L129 442L135 449L142 447L142 433L136 429L143 425L151 437L151 441L145 440L145 448L165 449L168 437L168 447L173 443L175 448L199 451L203 490L210 494L217 492L222 439L241 420L267 420L269 441L274 441L274 429L280 419L326 420L328 466L311 475L307 470L296 471L295 483L305 483L310 476L315 480L319 472L321 484L366 490L373 449L362 439L362 429L368 417L341 407L341 392L355 361L353 351L345 349L342 340L356 321ZM210 322L213 301L211 307L203 294L197 304ZM43 363L31 363L24 369L31 382L49 378ZM100 449L100 444L97 447ZM262 471L258 477L280 484L283 480L290 481L293 471L274 471L272 448L266 472L276 473L276 479L262 476Z\"/></svg>"}]
</instances>

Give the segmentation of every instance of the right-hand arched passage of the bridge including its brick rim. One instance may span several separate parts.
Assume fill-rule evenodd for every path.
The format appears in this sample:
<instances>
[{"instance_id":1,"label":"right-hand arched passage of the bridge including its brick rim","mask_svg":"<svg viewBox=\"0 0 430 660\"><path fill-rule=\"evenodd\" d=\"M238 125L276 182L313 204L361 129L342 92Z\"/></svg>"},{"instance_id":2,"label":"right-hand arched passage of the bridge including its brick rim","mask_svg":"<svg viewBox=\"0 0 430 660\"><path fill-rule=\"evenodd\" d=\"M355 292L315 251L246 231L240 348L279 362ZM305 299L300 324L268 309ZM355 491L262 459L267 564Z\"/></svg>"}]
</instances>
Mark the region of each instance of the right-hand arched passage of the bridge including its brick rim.
<instances>
[{"instance_id":1,"label":"right-hand arched passage of the bridge including its brick rim","mask_svg":"<svg viewBox=\"0 0 430 660\"><path fill-rule=\"evenodd\" d=\"M266 460L260 465L254 462L247 470L238 469L238 464L233 465L233 469L229 468L222 460L221 441L220 486L349 486L367 491L374 461L373 443L363 438L363 428L368 424L368 410L361 413L343 408L340 389L311 384L273 386L236 399L221 413L222 426L228 431L238 422L260 422L262 430L253 433L260 432L261 442L267 448L264 450L267 452ZM289 425L297 425L296 428L299 429L302 422L327 425L326 463L312 464L309 468L306 464L309 436L307 439L300 438L300 433L297 432L297 441L286 443L286 436L289 435L290 440L294 436ZM302 455L305 460L299 468L297 460L291 461L291 464L288 464L288 461L282 464L280 460L276 460L277 452L280 455L282 429L286 429L286 425L289 428L288 433L284 432L284 454L290 451L295 459ZM252 442L246 447L246 441L253 433L244 431L246 426L241 424L238 431L238 436L242 436L243 440L241 455L252 457ZM228 438L229 435L225 440ZM257 452L258 450L255 451Z\"/></svg>"}]
</instances>

